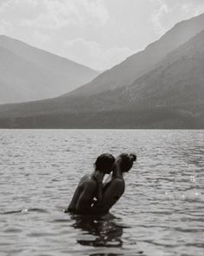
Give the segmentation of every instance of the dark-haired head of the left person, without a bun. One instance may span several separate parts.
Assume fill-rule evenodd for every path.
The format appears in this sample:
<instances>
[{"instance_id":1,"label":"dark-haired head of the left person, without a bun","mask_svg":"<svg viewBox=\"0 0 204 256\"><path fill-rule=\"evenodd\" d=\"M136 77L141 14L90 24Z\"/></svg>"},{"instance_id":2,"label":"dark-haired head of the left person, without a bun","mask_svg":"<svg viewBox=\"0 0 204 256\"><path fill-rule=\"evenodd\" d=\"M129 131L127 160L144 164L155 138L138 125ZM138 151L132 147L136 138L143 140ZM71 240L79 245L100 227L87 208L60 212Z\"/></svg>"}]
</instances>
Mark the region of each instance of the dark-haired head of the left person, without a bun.
<instances>
[{"instance_id":1,"label":"dark-haired head of the left person, without a bun","mask_svg":"<svg viewBox=\"0 0 204 256\"><path fill-rule=\"evenodd\" d=\"M109 153L102 154L95 161L95 170L109 174L115 163L115 158Z\"/></svg>"}]
</instances>

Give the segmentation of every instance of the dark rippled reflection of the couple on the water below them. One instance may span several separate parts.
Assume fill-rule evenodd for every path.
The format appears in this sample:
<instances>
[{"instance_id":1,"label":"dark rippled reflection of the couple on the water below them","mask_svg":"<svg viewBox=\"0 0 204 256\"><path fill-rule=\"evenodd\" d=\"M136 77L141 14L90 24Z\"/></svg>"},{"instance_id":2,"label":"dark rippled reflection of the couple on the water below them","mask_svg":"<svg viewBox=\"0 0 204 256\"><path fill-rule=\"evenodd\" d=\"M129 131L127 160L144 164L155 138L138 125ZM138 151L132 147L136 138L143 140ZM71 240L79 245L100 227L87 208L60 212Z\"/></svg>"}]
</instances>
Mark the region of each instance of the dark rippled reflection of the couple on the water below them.
<instances>
[{"instance_id":1,"label":"dark rippled reflection of the couple on the water below them","mask_svg":"<svg viewBox=\"0 0 204 256\"><path fill-rule=\"evenodd\" d=\"M82 246L122 247L123 227L115 221L115 216L72 215L73 227L82 231L77 242Z\"/></svg>"}]
</instances>

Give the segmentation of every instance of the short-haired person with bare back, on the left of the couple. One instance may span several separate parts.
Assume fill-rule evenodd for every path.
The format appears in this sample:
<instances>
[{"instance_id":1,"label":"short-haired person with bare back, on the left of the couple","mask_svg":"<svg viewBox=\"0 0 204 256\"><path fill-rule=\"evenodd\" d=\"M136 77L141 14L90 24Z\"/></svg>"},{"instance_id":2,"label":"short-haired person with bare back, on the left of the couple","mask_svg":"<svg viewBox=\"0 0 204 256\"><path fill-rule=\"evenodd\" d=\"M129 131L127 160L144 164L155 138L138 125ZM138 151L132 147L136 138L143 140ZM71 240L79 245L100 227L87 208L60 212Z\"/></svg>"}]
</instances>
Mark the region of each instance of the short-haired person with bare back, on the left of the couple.
<instances>
[{"instance_id":1,"label":"short-haired person with bare back, on the left of the couple","mask_svg":"<svg viewBox=\"0 0 204 256\"><path fill-rule=\"evenodd\" d=\"M105 174L112 172L114 164L115 158L111 154L100 155L95 161L94 172L83 176L80 180L65 212L91 214L93 212L94 198L102 201L102 179Z\"/></svg>"}]
</instances>

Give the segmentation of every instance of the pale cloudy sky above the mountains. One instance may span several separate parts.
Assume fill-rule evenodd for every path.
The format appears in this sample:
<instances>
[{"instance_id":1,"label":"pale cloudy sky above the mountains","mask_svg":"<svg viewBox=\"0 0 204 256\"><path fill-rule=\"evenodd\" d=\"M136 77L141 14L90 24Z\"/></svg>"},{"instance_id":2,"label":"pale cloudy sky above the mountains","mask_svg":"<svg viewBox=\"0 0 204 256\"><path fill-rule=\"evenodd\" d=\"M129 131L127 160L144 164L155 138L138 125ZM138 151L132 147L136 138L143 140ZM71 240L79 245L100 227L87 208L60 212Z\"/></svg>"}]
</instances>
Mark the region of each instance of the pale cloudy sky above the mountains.
<instances>
[{"instance_id":1,"label":"pale cloudy sky above the mountains","mask_svg":"<svg viewBox=\"0 0 204 256\"><path fill-rule=\"evenodd\" d=\"M0 0L0 35L104 71L203 12L204 0Z\"/></svg>"}]
</instances>

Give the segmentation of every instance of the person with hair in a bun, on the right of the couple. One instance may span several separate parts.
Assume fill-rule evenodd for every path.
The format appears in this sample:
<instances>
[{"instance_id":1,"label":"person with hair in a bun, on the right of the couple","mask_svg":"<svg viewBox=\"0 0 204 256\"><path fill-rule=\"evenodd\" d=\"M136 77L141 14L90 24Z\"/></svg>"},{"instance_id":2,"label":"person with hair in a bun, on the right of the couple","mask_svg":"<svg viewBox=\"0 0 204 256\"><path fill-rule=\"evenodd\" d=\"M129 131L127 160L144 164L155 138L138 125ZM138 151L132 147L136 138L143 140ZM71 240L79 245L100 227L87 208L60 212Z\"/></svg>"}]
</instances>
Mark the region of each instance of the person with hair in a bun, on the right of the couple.
<instances>
[{"instance_id":1,"label":"person with hair in a bun, on the right of the couple","mask_svg":"<svg viewBox=\"0 0 204 256\"><path fill-rule=\"evenodd\" d=\"M132 168L135 161L136 155L132 153L122 153L115 159L112 175L103 185L99 184L98 199L93 205L92 212L108 213L109 209L122 197L125 191L123 175Z\"/></svg>"}]
</instances>

